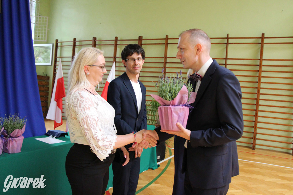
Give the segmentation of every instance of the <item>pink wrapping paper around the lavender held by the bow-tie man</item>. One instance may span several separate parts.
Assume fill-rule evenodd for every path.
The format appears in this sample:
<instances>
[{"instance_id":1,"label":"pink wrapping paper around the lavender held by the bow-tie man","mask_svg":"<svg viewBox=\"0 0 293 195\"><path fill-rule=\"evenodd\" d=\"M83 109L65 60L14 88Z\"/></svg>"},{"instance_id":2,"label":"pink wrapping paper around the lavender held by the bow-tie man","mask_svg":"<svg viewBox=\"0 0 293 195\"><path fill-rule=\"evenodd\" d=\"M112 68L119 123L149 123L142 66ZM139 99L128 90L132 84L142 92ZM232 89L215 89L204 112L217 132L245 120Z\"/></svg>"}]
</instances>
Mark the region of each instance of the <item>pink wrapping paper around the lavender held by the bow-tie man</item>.
<instances>
[{"instance_id":1,"label":"pink wrapping paper around the lavender held by the bow-tie man","mask_svg":"<svg viewBox=\"0 0 293 195\"><path fill-rule=\"evenodd\" d=\"M191 104L195 101L196 93L191 92L190 99L188 101L188 90L185 85L181 88L178 95L174 100L168 101L159 97L158 95L151 94L157 102L161 104L159 106L159 120L161 129L180 131L176 123L180 122L184 128L189 115L189 107L186 105Z\"/></svg>"}]
</instances>

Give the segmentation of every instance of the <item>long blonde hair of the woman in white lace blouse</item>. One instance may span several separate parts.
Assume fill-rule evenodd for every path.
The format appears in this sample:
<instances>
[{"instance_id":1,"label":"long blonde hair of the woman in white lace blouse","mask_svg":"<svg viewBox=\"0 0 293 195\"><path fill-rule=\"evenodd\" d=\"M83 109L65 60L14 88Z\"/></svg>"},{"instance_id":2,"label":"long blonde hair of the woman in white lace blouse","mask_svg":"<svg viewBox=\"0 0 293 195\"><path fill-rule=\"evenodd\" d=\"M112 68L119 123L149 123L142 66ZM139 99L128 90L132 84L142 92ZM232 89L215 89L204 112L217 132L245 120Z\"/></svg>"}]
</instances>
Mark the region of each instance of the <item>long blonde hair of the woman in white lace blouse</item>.
<instances>
[{"instance_id":1,"label":"long blonde hair of the woman in white lace blouse","mask_svg":"<svg viewBox=\"0 0 293 195\"><path fill-rule=\"evenodd\" d=\"M76 54L68 73L67 94L90 86L89 81L86 79L84 66L96 63L100 55L103 55L103 52L96 47L83 48Z\"/></svg>"}]
</instances>

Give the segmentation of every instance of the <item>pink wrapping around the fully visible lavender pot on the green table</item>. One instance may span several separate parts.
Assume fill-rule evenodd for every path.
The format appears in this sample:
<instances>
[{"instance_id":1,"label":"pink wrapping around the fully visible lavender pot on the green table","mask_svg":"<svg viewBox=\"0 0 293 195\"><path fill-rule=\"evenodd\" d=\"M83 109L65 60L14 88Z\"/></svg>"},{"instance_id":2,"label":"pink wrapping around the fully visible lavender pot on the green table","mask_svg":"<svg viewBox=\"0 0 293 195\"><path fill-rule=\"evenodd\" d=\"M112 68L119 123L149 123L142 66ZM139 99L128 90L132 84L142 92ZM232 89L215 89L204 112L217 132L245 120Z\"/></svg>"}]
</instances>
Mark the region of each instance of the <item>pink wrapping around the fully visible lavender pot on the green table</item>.
<instances>
[{"instance_id":1,"label":"pink wrapping around the fully visible lavender pot on the green table","mask_svg":"<svg viewBox=\"0 0 293 195\"><path fill-rule=\"evenodd\" d=\"M12 154L21 152L21 146L23 143L23 132L25 130L25 124L22 129L15 129L12 133L7 136L6 131L2 132L2 135L6 136L2 138L4 142L3 152Z\"/></svg>"}]
</instances>

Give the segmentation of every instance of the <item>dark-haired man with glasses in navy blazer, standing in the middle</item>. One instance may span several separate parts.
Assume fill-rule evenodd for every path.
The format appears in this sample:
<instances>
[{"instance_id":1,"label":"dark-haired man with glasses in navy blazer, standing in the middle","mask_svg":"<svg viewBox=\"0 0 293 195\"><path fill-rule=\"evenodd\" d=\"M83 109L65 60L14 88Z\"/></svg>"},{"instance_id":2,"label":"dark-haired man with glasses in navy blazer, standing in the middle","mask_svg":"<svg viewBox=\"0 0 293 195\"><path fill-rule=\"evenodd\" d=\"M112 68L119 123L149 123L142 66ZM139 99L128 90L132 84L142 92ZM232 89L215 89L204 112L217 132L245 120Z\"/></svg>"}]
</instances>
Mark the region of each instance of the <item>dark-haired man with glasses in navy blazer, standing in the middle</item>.
<instances>
[{"instance_id":1,"label":"dark-haired man with glasses in navy blazer, standing in the middle","mask_svg":"<svg viewBox=\"0 0 293 195\"><path fill-rule=\"evenodd\" d=\"M107 98L115 109L117 135L147 129L146 88L138 80L144 57L144 49L140 45L127 45L121 52L126 71L108 86ZM132 148L131 144L125 148L130 151L129 163L122 167L123 156L120 157L118 152L112 163L113 195L134 195L136 192L143 148L138 145Z\"/></svg>"}]
</instances>

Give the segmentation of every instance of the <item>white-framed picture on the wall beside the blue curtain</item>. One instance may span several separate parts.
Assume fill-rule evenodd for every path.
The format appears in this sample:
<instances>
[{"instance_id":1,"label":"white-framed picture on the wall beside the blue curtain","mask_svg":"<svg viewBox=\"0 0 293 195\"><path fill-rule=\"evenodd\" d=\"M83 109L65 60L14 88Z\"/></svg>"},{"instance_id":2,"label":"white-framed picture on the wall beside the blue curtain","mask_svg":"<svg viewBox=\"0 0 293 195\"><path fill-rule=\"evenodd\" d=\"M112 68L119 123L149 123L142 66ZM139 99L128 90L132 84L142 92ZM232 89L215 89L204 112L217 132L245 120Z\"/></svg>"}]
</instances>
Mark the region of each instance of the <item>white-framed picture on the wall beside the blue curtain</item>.
<instances>
[{"instance_id":1,"label":"white-framed picture on the wall beside the blue curtain","mask_svg":"<svg viewBox=\"0 0 293 195\"><path fill-rule=\"evenodd\" d=\"M52 65L53 44L34 44L35 64Z\"/></svg>"}]
</instances>

